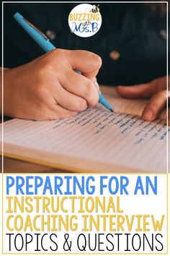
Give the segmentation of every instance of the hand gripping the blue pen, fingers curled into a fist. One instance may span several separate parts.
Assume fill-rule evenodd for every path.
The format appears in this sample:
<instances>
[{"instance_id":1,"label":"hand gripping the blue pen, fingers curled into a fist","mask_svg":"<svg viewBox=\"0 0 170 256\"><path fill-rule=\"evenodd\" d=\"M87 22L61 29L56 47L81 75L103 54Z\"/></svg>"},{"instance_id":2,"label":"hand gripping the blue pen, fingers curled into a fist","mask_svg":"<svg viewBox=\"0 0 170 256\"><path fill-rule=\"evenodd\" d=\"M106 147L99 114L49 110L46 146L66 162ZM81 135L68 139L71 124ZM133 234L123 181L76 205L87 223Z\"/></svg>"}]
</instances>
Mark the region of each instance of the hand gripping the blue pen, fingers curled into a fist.
<instances>
[{"instance_id":1,"label":"hand gripping the blue pen, fingers curled into a fist","mask_svg":"<svg viewBox=\"0 0 170 256\"><path fill-rule=\"evenodd\" d=\"M5 69L4 115L53 120L96 105L95 77L101 64L100 57L89 51L56 49L21 67Z\"/></svg>"}]
</instances>

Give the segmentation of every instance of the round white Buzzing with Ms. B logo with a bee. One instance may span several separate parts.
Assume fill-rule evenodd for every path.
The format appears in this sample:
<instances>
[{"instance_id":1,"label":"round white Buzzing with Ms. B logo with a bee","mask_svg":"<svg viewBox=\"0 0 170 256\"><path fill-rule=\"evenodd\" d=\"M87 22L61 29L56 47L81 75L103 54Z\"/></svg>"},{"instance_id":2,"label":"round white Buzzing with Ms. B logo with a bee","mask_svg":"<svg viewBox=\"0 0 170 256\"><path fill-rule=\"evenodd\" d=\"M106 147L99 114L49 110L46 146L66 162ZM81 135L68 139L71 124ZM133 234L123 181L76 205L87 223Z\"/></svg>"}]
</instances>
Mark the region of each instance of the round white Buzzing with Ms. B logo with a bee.
<instances>
[{"instance_id":1,"label":"round white Buzzing with Ms. B logo with a bee","mask_svg":"<svg viewBox=\"0 0 170 256\"><path fill-rule=\"evenodd\" d=\"M68 16L68 25L71 33L88 38L95 35L101 25L102 16L99 12L99 4L79 4L74 7Z\"/></svg>"}]
</instances>

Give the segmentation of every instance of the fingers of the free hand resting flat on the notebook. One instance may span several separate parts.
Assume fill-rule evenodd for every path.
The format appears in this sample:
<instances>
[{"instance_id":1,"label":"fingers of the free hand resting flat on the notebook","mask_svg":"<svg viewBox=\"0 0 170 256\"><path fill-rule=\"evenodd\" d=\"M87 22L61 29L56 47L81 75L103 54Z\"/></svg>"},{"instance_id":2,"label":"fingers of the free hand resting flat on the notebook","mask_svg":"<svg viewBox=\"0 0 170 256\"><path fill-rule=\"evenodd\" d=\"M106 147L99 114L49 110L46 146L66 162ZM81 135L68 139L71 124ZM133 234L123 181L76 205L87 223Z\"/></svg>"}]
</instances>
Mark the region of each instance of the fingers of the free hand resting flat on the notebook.
<instances>
[{"instance_id":1,"label":"fingers of the free hand resting flat on the notebook","mask_svg":"<svg viewBox=\"0 0 170 256\"><path fill-rule=\"evenodd\" d=\"M167 77L160 77L146 84L133 85L130 87L117 86L117 93L125 98L150 98L143 110L142 118L145 121L153 121L166 106L166 78Z\"/></svg>"}]
</instances>

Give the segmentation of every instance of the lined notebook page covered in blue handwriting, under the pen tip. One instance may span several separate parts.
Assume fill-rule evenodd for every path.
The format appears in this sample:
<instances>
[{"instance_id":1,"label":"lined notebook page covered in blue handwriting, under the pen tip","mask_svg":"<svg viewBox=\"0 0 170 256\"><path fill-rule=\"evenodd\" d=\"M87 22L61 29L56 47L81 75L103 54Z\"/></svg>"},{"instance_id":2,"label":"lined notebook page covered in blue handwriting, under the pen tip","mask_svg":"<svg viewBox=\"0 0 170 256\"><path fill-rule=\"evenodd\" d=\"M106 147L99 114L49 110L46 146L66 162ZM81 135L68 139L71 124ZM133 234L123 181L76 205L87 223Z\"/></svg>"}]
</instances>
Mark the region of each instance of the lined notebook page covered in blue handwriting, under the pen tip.
<instances>
[{"instance_id":1,"label":"lined notebook page covered in blue handwriting, under the pen tip","mask_svg":"<svg viewBox=\"0 0 170 256\"><path fill-rule=\"evenodd\" d=\"M61 154L66 159L67 156L84 159L84 163L89 160L136 171L166 172L167 134L161 121L146 122L138 116L100 108L56 121L6 121L4 143L21 150L25 147L30 151L55 153L56 159ZM33 156L36 158L36 153Z\"/></svg>"}]
</instances>

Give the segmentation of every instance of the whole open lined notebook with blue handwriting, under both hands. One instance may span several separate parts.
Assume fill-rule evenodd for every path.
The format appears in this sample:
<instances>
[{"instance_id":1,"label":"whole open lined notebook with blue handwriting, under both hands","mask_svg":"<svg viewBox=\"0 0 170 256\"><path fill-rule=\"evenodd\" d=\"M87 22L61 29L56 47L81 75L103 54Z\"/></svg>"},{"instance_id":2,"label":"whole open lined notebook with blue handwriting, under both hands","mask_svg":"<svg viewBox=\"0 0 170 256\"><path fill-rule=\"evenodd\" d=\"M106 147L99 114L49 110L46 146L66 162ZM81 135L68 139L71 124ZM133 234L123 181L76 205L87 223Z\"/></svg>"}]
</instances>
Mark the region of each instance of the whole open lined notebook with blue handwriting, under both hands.
<instances>
[{"instance_id":1,"label":"whole open lined notebook with blue handwriting, under both hands","mask_svg":"<svg viewBox=\"0 0 170 256\"><path fill-rule=\"evenodd\" d=\"M120 98L114 88L104 96L114 113L98 104L69 119L4 122L4 155L78 172L166 172L166 111L143 121L146 100Z\"/></svg>"}]
</instances>

